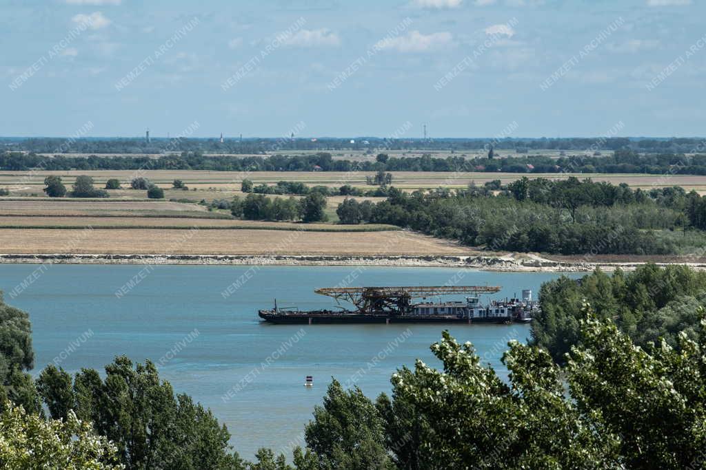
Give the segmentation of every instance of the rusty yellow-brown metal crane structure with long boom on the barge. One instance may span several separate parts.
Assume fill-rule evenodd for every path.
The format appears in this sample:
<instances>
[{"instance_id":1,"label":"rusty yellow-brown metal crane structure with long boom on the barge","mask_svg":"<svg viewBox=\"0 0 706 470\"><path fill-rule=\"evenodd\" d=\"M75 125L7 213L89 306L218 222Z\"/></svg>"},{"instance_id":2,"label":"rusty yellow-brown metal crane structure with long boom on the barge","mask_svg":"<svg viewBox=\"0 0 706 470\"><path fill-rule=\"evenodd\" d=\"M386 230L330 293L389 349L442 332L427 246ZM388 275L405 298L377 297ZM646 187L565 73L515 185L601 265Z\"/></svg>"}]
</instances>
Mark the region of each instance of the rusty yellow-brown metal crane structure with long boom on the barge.
<instances>
[{"instance_id":1,"label":"rusty yellow-brown metal crane structure with long boom on the barge","mask_svg":"<svg viewBox=\"0 0 706 470\"><path fill-rule=\"evenodd\" d=\"M497 285L436 285L398 287L321 287L317 294L328 295L354 304L363 314L391 313L404 314L411 305L412 298L426 298L433 295L474 294L499 292Z\"/></svg>"}]
</instances>

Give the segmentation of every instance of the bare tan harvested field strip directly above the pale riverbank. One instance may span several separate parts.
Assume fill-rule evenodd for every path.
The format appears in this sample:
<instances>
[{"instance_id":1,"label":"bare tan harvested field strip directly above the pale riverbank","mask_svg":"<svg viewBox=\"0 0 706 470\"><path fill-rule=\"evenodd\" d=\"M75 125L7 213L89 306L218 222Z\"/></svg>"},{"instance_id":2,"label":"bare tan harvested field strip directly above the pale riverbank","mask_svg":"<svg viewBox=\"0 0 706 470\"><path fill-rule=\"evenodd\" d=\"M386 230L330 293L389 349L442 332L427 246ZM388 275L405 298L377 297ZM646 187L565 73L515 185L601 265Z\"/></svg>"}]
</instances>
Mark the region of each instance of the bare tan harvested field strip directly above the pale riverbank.
<instances>
[{"instance_id":1,"label":"bare tan harvested field strip directly above the pale riverbank","mask_svg":"<svg viewBox=\"0 0 706 470\"><path fill-rule=\"evenodd\" d=\"M463 256L471 250L407 231L0 229L3 254Z\"/></svg>"}]
</instances>

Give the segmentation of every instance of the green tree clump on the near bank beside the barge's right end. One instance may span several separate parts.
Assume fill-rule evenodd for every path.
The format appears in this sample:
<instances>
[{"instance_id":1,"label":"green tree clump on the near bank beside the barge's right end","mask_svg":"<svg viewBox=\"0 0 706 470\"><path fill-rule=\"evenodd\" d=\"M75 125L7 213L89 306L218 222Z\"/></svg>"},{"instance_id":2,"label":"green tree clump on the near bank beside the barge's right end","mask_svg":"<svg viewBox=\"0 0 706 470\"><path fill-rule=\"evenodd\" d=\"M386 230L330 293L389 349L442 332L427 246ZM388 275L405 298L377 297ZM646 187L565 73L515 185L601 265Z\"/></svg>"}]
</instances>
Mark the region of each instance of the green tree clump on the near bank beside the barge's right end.
<instances>
[{"instance_id":1,"label":"green tree clump on the near bank beside the barge's right end","mask_svg":"<svg viewBox=\"0 0 706 470\"><path fill-rule=\"evenodd\" d=\"M580 280L561 277L542 285L542 309L533 315L532 344L546 348L559 364L580 340L584 302L598 319L614 319L640 347L664 340L676 347L680 335L695 338L695 306L706 290L706 273L689 266L654 264L612 276L597 269Z\"/></svg>"}]
</instances>

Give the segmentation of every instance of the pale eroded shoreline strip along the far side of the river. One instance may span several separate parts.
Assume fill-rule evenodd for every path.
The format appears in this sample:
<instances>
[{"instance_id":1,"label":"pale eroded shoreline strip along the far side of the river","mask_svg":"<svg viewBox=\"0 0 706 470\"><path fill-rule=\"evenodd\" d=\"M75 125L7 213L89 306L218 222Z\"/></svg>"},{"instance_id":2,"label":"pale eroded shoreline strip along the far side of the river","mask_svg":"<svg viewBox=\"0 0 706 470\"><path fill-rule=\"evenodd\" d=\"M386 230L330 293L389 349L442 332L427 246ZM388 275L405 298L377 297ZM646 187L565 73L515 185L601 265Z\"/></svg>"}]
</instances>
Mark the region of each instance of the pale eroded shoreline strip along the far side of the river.
<instances>
[{"instance_id":1,"label":"pale eroded shoreline strip along the far side of the river","mask_svg":"<svg viewBox=\"0 0 706 470\"><path fill-rule=\"evenodd\" d=\"M249 255L249 254L0 254L0 264L165 264L199 266L382 266L471 268L508 272L590 272L595 268L630 271L645 264L633 262L554 261L533 256L331 256L331 255ZM656 262L657 266L687 264L706 269L706 263Z\"/></svg>"}]
</instances>

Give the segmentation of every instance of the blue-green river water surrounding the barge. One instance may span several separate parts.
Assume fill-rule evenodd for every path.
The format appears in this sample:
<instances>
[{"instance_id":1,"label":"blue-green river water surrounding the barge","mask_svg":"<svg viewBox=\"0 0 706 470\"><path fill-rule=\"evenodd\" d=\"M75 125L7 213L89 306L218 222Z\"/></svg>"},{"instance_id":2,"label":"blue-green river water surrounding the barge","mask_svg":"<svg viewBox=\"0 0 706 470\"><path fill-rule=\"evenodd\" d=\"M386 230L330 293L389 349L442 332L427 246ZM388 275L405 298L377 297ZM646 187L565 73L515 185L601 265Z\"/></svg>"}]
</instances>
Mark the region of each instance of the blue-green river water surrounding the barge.
<instances>
[{"instance_id":1,"label":"blue-green river water surrounding the barge","mask_svg":"<svg viewBox=\"0 0 706 470\"><path fill-rule=\"evenodd\" d=\"M280 307L313 309L335 305L314 294L316 287L340 283L503 286L489 300L526 288L537 295L558 276L456 268L0 264L0 289L6 303L30 314L32 373L52 361L73 373L81 367L102 372L121 354L150 359L176 392L210 407L228 426L234 449L251 458L258 447L291 454L303 443L304 425L331 377L371 398L390 392L390 375L400 366L413 367L417 358L438 366L429 345L444 328L472 342L506 376L500 361L506 343L530 335L530 326L520 324L262 323L257 310L275 298ZM313 387L303 386L306 376L313 376Z\"/></svg>"}]
</instances>

